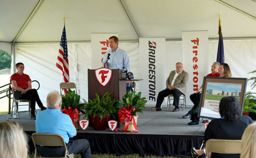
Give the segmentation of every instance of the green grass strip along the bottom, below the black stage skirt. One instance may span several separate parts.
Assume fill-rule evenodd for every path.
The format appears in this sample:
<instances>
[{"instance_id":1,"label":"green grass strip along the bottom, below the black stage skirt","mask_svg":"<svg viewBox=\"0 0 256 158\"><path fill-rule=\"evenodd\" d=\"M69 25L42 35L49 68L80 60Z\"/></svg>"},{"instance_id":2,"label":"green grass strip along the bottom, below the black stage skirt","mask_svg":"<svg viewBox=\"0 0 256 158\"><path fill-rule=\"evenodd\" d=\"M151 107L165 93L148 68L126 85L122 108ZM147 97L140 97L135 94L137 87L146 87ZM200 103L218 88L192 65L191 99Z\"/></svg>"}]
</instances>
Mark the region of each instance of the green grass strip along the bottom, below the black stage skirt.
<instances>
[{"instance_id":1,"label":"green grass strip along the bottom, below the black stage skirt","mask_svg":"<svg viewBox=\"0 0 256 158\"><path fill-rule=\"evenodd\" d=\"M30 154L29 158L33 158L34 155ZM161 158L180 158L180 157L172 157L172 156L164 156ZM79 154L74 154L74 158L81 158L81 156ZM120 156L116 156L116 155L108 155L108 154L93 154L92 158L140 158L140 156L138 154L136 155L120 155ZM160 156L145 156L145 158L160 158Z\"/></svg>"}]
</instances>

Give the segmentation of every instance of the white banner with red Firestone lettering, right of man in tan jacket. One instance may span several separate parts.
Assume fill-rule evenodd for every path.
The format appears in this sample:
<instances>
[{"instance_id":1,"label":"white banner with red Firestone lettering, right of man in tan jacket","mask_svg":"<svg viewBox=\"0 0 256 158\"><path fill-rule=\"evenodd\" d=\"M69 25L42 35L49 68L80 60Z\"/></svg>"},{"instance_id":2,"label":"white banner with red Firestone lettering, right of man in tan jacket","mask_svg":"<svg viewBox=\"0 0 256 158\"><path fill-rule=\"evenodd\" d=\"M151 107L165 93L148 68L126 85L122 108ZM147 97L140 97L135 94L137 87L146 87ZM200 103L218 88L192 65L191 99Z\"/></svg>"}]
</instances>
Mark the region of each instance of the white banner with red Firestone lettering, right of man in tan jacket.
<instances>
[{"instance_id":1,"label":"white banner with red Firestone lettering, right of man in tan jacket","mask_svg":"<svg viewBox=\"0 0 256 158\"><path fill-rule=\"evenodd\" d=\"M183 69L189 74L186 96L189 98L203 82L208 66L208 31L182 32Z\"/></svg>"}]
</instances>

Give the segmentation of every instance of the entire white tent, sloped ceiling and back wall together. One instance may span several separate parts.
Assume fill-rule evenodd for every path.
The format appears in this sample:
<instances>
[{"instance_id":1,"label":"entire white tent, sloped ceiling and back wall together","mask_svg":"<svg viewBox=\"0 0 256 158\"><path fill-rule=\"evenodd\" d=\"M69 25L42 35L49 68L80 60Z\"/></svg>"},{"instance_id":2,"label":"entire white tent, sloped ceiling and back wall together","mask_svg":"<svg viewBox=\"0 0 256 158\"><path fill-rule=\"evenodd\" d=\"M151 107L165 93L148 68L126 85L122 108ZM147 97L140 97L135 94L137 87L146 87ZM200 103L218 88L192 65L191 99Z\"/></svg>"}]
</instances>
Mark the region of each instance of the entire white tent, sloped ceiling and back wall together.
<instances>
[{"instance_id":1,"label":"entire white tent, sloped ceiling and back wall together","mask_svg":"<svg viewBox=\"0 0 256 158\"><path fill-rule=\"evenodd\" d=\"M91 33L117 32L134 76L140 76L138 39L166 38L163 78L167 78L175 63L183 61L182 31L207 30L210 41L205 60L216 61L220 13L225 62L234 77L250 78L247 73L256 69L255 8L252 0L0 0L0 49L15 55L13 63L24 62L25 73L40 82L39 93L45 102L49 90L59 90L62 81L55 63L65 17L70 82L76 82L88 100ZM138 83L136 89L143 88Z\"/></svg>"}]
</instances>

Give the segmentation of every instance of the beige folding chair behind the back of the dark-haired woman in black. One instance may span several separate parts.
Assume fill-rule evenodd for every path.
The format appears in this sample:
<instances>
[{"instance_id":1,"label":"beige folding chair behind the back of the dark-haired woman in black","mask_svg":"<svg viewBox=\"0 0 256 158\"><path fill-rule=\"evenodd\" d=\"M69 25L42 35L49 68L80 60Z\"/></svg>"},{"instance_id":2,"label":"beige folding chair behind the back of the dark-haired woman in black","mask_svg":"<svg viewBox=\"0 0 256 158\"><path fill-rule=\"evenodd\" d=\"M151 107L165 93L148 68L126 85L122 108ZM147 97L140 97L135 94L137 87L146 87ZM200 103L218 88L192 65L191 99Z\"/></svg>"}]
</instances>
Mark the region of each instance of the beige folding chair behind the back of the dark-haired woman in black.
<instances>
[{"instance_id":1,"label":"beige folding chair behind the back of the dark-haired woman in black","mask_svg":"<svg viewBox=\"0 0 256 158\"><path fill-rule=\"evenodd\" d=\"M210 139L205 144L205 157L208 157L208 152L219 154L240 154L241 140L217 140Z\"/></svg>"}]
</instances>

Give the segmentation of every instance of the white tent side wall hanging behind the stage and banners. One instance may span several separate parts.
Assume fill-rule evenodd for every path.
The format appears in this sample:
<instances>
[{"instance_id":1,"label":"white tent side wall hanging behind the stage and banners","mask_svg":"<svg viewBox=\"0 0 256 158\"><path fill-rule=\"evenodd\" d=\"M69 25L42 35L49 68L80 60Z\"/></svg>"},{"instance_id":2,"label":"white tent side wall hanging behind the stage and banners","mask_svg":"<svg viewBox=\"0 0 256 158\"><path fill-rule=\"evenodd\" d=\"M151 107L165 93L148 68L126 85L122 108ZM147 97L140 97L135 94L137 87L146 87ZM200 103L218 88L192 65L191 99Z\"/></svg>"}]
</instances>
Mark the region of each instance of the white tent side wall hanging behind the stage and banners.
<instances>
[{"instance_id":1,"label":"white tent side wall hanging behind the stage and banners","mask_svg":"<svg viewBox=\"0 0 256 158\"><path fill-rule=\"evenodd\" d=\"M24 73L28 74L31 80L38 80L40 82L38 93L45 105L47 93L51 90L60 90L59 84L63 80L60 69L55 66L59 47L59 44L33 43L17 44L15 47L15 62L23 62L25 64ZM134 73L134 78L139 78L139 43L120 42L119 47L124 49L129 55L131 71ZM218 41L209 41L208 59L205 59L209 63L216 61L217 48ZM252 77L253 75L248 75L247 73L256 69L256 40L224 41L224 48L225 62L229 64L232 76L238 78ZM90 43L68 44L68 60L70 66L70 82L77 84L79 94L81 94L83 99L88 101L87 72L92 64ZM170 71L175 69L175 63L178 61L182 62L182 42L166 42L166 75L162 76L163 78L167 78ZM207 69L209 72L211 71L211 68ZM252 82L248 82L247 91L251 90L251 84ZM136 84L137 92L143 88L147 87L140 87L140 82ZM255 92L255 90L253 91ZM191 105L189 95L186 94L188 104ZM163 104L166 104L166 102Z\"/></svg>"}]
</instances>

